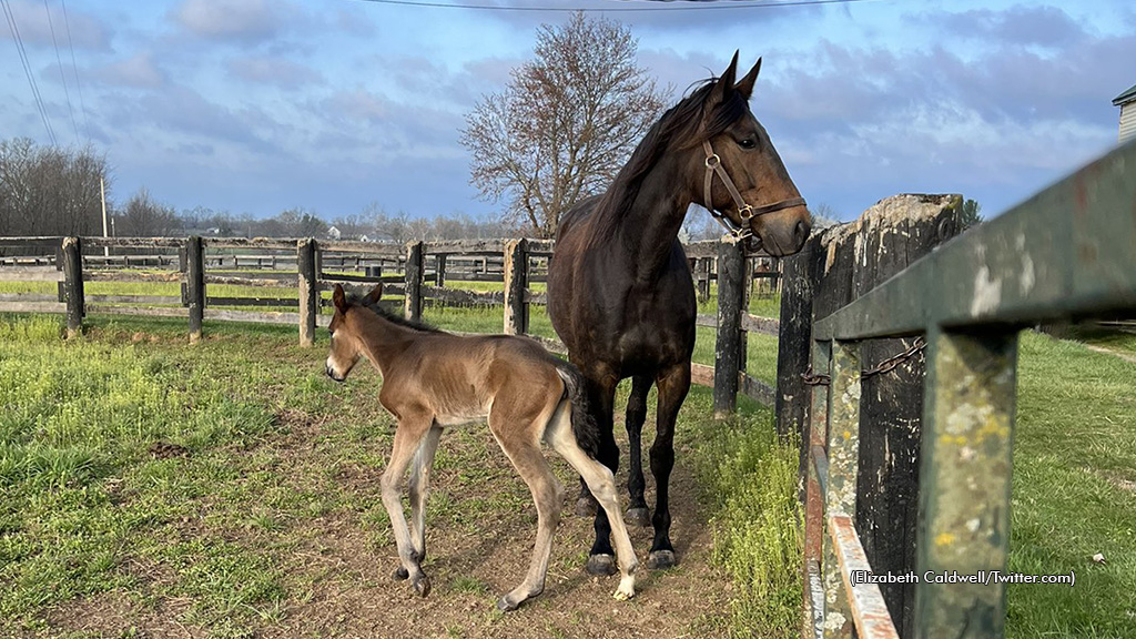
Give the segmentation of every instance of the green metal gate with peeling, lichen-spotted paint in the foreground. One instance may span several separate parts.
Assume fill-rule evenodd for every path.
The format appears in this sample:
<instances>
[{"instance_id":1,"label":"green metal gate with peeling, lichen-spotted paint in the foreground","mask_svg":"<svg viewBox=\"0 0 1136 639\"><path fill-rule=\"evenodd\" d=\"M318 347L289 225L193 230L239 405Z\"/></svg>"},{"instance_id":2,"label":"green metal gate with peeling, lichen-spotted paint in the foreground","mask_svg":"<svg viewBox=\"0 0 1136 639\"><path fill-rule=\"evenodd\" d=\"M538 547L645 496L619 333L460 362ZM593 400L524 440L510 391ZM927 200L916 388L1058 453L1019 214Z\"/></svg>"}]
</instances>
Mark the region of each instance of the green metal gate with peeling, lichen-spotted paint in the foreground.
<instances>
[{"instance_id":1,"label":"green metal gate with peeling, lichen-spotted paint in the foreground","mask_svg":"<svg viewBox=\"0 0 1136 639\"><path fill-rule=\"evenodd\" d=\"M926 337L913 572L1004 574L1018 333L1042 321L1136 310L1134 210L1136 144L1128 144L812 324L811 368L826 372L828 385L811 387L805 446L810 634L851 637L854 626L861 638L895 637L909 624L904 634L920 638L1003 636L1003 583L920 579L907 613L895 603L882 609L871 584L852 584L852 571L884 572L878 561L892 561L864 553L858 532L869 423L862 349L874 338ZM810 579L817 566L820 579Z\"/></svg>"}]
</instances>

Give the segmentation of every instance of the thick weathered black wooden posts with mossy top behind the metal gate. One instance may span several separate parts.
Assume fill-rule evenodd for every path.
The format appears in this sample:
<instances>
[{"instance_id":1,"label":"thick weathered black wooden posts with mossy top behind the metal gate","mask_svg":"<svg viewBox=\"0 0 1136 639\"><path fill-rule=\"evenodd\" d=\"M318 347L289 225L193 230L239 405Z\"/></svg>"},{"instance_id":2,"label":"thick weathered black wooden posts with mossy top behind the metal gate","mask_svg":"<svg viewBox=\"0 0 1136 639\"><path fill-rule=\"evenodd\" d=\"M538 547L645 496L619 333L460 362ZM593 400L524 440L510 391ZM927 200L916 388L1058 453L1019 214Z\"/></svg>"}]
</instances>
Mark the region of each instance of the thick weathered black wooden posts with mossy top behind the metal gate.
<instances>
[{"instance_id":1,"label":"thick weathered black wooden posts with mossy top behind the metal gate","mask_svg":"<svg viewBox=\"0 0 1136 639\"><path fill-rule=\"evenodd\" d=\"M809 447L803 442L810 439L802 430L808 423L811 396L802 374L809 371L813 321L868 292L957 234L961 204L959 196L887 198L857 222L813 235L801 252L782 262L777 429L782 434L802 434L802 492L809 458ZM860 347L861 365L872 368L912 346L911 339L866 340ZM922 413L922 366L916 355L918 351L887 374L863 379L863 424L859 435L862 453L854 515L864 551L877 573L905 573L914 566ZM914 586L882 583L879 589L896 628L908 636L914 619Z\"/></svg>"}]
</instances>

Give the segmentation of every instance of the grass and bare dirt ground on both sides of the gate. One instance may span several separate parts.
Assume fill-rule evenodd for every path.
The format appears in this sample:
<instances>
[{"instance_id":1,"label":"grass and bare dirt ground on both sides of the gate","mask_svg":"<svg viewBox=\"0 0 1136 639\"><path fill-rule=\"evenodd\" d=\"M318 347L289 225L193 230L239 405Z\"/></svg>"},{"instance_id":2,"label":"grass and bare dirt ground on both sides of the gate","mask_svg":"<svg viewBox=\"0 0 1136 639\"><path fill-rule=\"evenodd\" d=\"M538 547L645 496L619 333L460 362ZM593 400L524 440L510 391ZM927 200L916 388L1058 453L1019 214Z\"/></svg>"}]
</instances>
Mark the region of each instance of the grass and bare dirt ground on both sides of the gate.
<instances>
[{"instance_id":1,"label":"grass and bare dirt ground on both sides of the gate","mask_svg":"<svg viewBox=\"0 0 1136 639\"><path fill-rule=\"evenodd\" d=\"M426 318L477 332L501 321ZM527 563L534 517L483 430L443 440L435 594L414 599L387 578L377 476L392 423L375 375L326 380L323 331L301 349L290 326L206 329L191 347L183 321L93 317L67 343L58 317L0 316L0 636L796 636L796 455L768 409L743 403L738 420L713 422L704 389L684 406L679 569L613 609L610 584L580 578L590 525L566 517L549 591L502 616L493 601ZM543 313L533 332L552 335ZM1130 335L1079 337L1136 352ZM750 371L771 381L776 339L750 339ZM700 329L695 358L712 363L712 331ZM1011 586L1008 634L1133 637L1136 365L1030 332L1019 362L1010 569L1074 571L1077 584ZM519 554L487 562L486 534Z\"/></svg>"}]
</instances>

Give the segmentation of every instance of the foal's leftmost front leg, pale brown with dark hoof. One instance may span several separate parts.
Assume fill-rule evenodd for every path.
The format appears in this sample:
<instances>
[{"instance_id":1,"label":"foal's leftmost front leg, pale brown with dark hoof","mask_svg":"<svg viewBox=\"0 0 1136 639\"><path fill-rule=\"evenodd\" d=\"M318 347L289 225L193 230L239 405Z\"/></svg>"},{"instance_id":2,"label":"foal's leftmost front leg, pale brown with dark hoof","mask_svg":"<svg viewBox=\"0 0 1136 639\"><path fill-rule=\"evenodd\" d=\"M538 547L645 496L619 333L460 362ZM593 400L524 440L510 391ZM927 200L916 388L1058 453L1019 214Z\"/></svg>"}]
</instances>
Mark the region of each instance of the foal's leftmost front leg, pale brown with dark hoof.
<instances>
[{"instance_id":1,"label":"foal's leftmost front leg, pale brown with dark hoof","mask_svg":"<svg viewBox=\"0 0 1136 639\"><path fill-rule=\"evenodd\" d=\"M410 530L407 528L407 516L402 511L401 483L407 467L421 446L426 433L429 432L433 422L434 420L428 415L403 415L399 420L399 426L394 433L394 448L391 450L391 460L386 464L382 480L383 506L386 507L386 514L391 520L394 545L399 550L399 562L407 576L410 578L415 590L423 597L429 595L431 583L429 578L423 573L421 557L418 556L410 539ZM399 575L400 572L395 572L395 576Z\"/></svg>"}]
</instances>

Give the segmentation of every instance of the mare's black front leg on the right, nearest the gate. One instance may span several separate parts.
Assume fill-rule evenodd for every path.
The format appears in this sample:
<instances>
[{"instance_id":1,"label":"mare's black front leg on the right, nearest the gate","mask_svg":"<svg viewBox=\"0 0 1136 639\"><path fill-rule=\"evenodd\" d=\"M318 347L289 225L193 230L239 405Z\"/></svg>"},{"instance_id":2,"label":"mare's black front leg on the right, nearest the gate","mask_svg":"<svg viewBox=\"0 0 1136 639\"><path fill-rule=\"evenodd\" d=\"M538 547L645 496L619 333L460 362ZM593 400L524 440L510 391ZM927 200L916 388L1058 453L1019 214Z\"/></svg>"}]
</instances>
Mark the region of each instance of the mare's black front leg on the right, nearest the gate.
<instances>
[{"instance_id":1,"label":"mare's black front leg on the right, nearest the gate","mask_svg":"<svg viewBox=\"0 0 1136 639\"><path fill-rule=\"evenodd\" d=\"M659 406L654 445L651 446L651 473L654 475L654 541L646 565L669 569L675 565L675 547L670 545L670 471L675 466L675 420L691 389L691 364L685 362L663 371L659 384Z\"/></svg>"}]
</instances>

